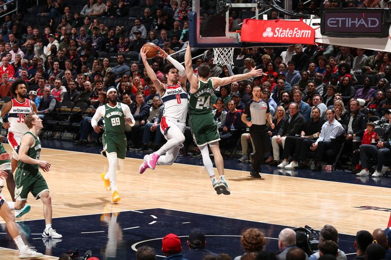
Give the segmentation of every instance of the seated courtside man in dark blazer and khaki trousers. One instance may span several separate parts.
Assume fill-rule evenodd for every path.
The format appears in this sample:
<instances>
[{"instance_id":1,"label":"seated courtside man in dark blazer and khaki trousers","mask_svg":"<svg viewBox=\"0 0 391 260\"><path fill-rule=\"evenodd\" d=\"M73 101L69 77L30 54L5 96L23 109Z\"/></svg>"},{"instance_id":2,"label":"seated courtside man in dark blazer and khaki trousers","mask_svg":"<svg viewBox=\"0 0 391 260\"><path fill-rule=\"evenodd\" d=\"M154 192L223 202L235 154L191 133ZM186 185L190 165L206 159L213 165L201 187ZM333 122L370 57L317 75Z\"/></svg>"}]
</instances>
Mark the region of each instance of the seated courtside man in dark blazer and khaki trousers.
<instances>
[{"instance_id":1,"label":"seated courtside man in dark blazer and khaki trousers","mask_svg":"<svg viewBox=\"0 0 391 260\"><path fill-rule=\"evenodd\" d=\"M270 162L271 165L279 165L281 163L280 145L283 149L285 146L286 137L300 134L304 122L305 119L300 114L299 105L297 103L290 103L289 115L286 116L285 122L278 131L277 135L272 137L274 160Z\"/></svg>"}]
</instances>

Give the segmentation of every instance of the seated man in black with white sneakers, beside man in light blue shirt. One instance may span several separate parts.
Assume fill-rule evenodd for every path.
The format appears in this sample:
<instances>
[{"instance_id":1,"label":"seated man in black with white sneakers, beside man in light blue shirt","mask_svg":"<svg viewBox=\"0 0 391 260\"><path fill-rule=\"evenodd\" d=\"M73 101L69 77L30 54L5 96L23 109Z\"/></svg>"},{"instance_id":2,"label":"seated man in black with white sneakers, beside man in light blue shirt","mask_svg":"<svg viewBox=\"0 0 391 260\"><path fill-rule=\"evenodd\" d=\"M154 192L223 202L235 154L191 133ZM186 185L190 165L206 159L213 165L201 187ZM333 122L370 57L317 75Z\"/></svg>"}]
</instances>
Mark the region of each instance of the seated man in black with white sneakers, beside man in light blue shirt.
<instances>
[{"instance_id":1,"label":"seated man in black with white sneakers, beside man in light blue shirt","mask_svg":"<svg viewBox=\"0 0 391 260\"><path fill-rule=\"evenodd\" d=\"M295 169L299 166L299 156L301 146L304 139L313 139L320 135L322 125L325 120L321 117L321 110L317 107L312 109L311 118L305 121L303 130L299 136L291 135L286 137L285 146L282 153L282 162L277 166L278 168ZM289 163L288 158L291 151L294 150L293 160Z\"/></svg>"}]
</instances>

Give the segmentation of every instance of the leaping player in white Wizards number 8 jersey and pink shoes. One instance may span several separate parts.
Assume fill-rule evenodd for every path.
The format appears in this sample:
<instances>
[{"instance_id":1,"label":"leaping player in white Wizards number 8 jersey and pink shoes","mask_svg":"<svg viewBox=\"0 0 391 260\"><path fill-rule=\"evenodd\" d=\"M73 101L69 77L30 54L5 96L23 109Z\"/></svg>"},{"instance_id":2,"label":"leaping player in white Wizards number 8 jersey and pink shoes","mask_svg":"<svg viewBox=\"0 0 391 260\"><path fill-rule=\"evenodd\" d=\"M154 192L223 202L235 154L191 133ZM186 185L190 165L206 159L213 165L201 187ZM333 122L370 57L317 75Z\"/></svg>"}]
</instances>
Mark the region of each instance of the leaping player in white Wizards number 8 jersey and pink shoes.
<instances>
[{"instance_id":1,"label":"leaping player in white Wizards number 8 jersey and pink shoes","mask_svg":"<svg viewBox=\"0 0 391 260\"><path fill-rule=\"evenodd\" d=\"M167 84L157 79L156 74L147 61L147 50L141 49L141 58L147 70L148 77L153 81L154 86L160 94L164 104L163 117L160 122L160 131L167 139L167 142L159 150L146 155L144 162L140 165L139 172L143 173L147 168L152 170L158 165L172 165L178 156L182 143L185 141L183 135L186 127L187 115L187 92L186 92L186 71L185 68L172 57L159 48L158 57L166 58L171 64L167 64L164 73ZM162 154L166 153L165 156Z\"/></svg>"}]
</instances>

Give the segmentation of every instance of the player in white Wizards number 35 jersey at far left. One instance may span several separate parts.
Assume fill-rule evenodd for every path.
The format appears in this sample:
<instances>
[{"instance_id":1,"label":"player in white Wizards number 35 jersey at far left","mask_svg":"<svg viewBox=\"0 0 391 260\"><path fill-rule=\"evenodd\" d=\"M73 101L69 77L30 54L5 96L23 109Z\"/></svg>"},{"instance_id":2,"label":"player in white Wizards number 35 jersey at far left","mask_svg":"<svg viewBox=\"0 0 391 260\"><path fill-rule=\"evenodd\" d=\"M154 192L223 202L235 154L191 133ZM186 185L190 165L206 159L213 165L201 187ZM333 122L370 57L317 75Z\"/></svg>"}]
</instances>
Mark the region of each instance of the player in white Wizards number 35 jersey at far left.
<instances>
[{"instance_id":1,"label":"player in white Wizards number 35 jersey at far left","mask_svg":"<svg viewBox=\"0 0 391 260\"><path fill-rule=\"evenodd\" d=\"M15 202L15 180L13 172L18 167L18 151L16 151L23 135L28 131L27 125L24 123L24 119L31 112L37 113L37 107L35 103L27 97L27 83L25 80L17 79L12 85L10 92L13 93L16 98L7 102L1 108L1 117L4 117L8 113L8 122L3 123L4 128L8 128L8 144L12 147L12 159L11 165L2 164L0 170L8 173L7 188L11 195L12 201ZM13 203L7 202L11 209L14 209ZM30 211L30 205L25 205L21 210L15 210L15 217L20 218L24 214Z\"/></svg>"}]
</instances>

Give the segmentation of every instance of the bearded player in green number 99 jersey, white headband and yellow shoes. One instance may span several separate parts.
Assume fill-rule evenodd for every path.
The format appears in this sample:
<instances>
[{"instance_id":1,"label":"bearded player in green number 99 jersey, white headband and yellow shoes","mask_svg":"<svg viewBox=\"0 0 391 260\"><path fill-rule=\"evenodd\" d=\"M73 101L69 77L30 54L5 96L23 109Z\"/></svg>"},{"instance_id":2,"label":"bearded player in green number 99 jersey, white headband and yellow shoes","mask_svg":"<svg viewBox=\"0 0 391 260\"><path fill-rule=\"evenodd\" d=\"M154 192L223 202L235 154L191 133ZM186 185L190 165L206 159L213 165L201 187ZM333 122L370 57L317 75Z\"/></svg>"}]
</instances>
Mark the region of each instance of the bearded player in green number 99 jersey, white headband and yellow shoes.
<instances>
[{"instance_id":1,"label":"bearded player in green number 99 jersey, white headband and yellow shoes","mask_svg":"<svg viewBox=\"0 0 391 260\"><path fill-rule=\"evenodd\" d=\"M125 123L134 125L134 118L130 113L129 106L117 102L117 90L109 88L107 97L109 103L98 107L91 119L91 125L96 133L102 131L98 121L103 117L105 132L102 136L102 154L109 160L109 171L102 173L105 188L112 191L112 201L117 203L121 198L117 191L117 172L121 170L126 155Z\"/></svg>"}]
</instances>

